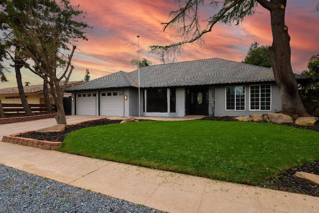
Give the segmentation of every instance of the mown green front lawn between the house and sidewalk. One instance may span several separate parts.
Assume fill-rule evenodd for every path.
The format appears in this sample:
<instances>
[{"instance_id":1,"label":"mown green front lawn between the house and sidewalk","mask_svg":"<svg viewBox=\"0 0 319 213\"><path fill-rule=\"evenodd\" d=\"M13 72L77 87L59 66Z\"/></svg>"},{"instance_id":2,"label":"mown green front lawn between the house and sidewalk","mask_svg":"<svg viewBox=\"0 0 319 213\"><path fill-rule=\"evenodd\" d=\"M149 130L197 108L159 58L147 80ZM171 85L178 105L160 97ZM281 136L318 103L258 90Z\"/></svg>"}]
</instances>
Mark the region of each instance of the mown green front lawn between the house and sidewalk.
<instances>
[{"instance_id":1,"label":"mown green front lawn between the house and sidewalk","mask_svg":"<svg viewBox=\"0 0 319 213\"><path fill-rule=\"evenodd\" d=\"M59 151L257 185L319 159L319 133L270 123L143 121L70 133Z\"/></svg>"}]
</instances>

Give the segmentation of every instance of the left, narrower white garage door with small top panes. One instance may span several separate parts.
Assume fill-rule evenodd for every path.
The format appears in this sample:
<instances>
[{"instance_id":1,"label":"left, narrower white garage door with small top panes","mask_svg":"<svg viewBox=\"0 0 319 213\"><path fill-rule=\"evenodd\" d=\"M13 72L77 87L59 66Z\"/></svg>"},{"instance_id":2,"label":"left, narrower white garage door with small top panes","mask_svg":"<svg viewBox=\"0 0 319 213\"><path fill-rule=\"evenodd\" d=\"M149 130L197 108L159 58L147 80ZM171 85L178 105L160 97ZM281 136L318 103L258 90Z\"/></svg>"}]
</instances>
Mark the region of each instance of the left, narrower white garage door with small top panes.
<instances>
[{"instance_id":1,"label":"left, narrower white garage door with small top panes","mask_svg":"<svg viewBox=\"0 0 319 213\"><path fill-rule=\"evenodd\" d=\"M96 115L96 93L76 93L76 115Z\"/></svg>"}]
</instances>

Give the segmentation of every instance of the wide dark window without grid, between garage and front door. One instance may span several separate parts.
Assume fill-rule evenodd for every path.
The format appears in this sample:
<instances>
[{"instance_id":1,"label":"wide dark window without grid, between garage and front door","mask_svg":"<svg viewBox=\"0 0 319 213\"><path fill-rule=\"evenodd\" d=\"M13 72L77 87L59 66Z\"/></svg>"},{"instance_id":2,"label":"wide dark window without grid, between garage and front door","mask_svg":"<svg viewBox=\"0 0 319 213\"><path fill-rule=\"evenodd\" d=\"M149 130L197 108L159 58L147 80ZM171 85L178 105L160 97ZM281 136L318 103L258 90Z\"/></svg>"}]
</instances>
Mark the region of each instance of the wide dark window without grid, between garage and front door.
<instances>
[{"instance_id":1,"label":"wide dark window without grid, between garage and front door","mask_svg":"<svg viewBox=\"0 0 319 213\"><path fill-rule=\"evenodd\" d=\"M147 89L147 112L167 112L167 90Z\"/></svg>"}]
</instances>

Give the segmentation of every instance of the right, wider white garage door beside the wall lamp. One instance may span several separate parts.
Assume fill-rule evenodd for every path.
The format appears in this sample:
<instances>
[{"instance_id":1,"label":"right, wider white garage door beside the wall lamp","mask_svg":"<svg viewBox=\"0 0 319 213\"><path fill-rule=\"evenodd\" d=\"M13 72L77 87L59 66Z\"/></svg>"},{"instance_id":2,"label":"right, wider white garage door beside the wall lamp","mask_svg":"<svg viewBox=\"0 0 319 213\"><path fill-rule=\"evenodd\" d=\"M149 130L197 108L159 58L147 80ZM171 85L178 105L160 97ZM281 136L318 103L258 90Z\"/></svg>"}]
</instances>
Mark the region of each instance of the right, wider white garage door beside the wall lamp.
<instances>
[{"instance_id":1,"label":"right, wider white garage door beside the wall lamp","mask_svg":"<svg viewBox=\"0 0 319 213\"><path fill-rule=\"evenodd\" d=\"M124 90L100 92L100 115L124 116Z\"/></svg>"}]
</instances>

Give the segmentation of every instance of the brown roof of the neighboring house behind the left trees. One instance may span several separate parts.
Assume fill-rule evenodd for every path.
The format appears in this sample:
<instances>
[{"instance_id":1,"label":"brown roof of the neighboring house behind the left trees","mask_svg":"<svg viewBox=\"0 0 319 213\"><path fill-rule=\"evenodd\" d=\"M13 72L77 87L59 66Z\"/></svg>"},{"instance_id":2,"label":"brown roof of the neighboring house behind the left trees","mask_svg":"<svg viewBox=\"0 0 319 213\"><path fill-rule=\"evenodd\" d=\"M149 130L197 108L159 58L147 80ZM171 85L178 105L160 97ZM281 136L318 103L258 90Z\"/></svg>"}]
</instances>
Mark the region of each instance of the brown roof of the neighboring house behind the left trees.
<instances>
[{"instance_id":1,"label":"brown roof of the neighboring house behind the left trees","mask_svg":"<svg viewBox=\"0 0 319 213\"><path fill-rule=\"evenodd\" d=\"M78 84L81 84L82 82L83 81L70 81L68 82L67 87L78 85ZM64 82L60 82L60 86L63 86L63 83ZM23 86L23 90L25 94L42 93L43 84ZM9 87L9 88L0 89L0 95L11 95L11 94L19 94L18 87Z\"/></svg>"}]
</instances>

